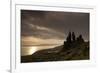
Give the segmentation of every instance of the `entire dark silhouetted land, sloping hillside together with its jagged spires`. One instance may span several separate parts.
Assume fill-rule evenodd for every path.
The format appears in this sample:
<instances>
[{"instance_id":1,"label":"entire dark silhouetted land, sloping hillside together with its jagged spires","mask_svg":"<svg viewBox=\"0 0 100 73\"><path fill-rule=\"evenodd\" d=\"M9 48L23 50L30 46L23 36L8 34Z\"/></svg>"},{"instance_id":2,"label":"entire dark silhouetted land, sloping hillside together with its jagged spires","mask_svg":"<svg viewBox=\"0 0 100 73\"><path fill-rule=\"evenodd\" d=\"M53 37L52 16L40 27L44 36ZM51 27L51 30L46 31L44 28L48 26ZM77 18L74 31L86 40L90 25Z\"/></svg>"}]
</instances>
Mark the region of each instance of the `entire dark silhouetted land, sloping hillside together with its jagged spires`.
<instances>
[{"instance_id":1,"label":"entire dark silhouetted land, sloping hillside together with its jagged spires","mask_svg":"<svg viewBox=\"0 0 100 73\"><path fill-rule=\"evenodd\" d=\"M84 41L81 34L76 37L74 32L68 33L64 44L61 46L37 51L30 56L21 56L22 63L88 59L89 41Z\"/></svg>"}]
</instances>

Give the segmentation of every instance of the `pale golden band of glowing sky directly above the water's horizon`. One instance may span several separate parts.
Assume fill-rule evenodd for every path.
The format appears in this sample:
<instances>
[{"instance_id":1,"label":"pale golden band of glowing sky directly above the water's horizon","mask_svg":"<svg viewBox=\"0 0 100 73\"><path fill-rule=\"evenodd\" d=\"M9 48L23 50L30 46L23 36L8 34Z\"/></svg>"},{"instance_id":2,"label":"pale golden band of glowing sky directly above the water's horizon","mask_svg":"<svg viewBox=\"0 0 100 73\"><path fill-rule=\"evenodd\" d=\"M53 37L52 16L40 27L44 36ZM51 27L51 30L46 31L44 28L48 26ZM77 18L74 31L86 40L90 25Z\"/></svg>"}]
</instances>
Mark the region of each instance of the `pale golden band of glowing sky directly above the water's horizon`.
<instances>
[{"instance_id":1,"label":"pale golden band of glowing sky directly above the water's horizon","mask_svg":"<svg viewBox=\"0 0 100 73\"><path fill-rule=\"evenodd\" d=\"M50 46L50 45L61 45L63 44L63 39L41 39L33 36L22 36L21 42L22 46ZM52 43L50 43L52 42Z\"/></svg>"}]
</instances>

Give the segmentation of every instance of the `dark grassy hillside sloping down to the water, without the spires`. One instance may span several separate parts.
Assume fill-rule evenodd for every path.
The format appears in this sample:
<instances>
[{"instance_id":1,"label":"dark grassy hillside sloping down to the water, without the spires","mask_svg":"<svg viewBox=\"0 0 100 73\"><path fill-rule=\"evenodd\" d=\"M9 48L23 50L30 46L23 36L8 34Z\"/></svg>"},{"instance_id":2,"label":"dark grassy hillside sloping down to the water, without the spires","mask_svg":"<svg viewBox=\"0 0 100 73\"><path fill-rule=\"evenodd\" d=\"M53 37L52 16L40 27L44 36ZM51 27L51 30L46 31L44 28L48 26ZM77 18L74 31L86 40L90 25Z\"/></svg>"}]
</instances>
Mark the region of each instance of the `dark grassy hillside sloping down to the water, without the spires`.
<instances>
[{"instance_id":1,"label":"dark grassy hillside sloping down to the water, without the spires","mask_svg":"<svg viewBox=\"0 0 100 73\"><path fill-rule=\"evenodd\" d=\"M37 51L30 56L22 56L21 62L47 62L47 61L68 61L68 60L89 60L89 43L83 42L76 46L65 48L64 45L52 49Z\"/></svg>"}]
</instances>

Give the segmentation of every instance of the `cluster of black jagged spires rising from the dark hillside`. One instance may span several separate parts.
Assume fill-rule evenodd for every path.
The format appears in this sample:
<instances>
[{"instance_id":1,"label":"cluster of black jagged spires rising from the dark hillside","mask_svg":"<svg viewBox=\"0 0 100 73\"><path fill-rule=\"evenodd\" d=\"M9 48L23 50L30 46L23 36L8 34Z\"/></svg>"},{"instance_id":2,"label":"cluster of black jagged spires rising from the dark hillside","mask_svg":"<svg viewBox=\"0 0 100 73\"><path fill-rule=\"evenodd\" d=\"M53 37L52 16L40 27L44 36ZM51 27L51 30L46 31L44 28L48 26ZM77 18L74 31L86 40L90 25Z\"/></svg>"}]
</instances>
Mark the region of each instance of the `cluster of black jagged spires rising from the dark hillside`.
<instances>
[{"instance_id":1,"label":"cluster of black jagged spires rising from the dark hillside","mask_svg":"<svg viewBox=\"0 0 100 73\"><path fill-rule=\"evenodd\" d=\"M78 37L76 37L74 32L72 32L72 33L69 32L66 40L64 41L64 46L63 46L62 50L65 51L68 48L75 47L82 43L84 43L84 39L83 39L82 35L79 35Z\"/></svg>"}]
</instances>

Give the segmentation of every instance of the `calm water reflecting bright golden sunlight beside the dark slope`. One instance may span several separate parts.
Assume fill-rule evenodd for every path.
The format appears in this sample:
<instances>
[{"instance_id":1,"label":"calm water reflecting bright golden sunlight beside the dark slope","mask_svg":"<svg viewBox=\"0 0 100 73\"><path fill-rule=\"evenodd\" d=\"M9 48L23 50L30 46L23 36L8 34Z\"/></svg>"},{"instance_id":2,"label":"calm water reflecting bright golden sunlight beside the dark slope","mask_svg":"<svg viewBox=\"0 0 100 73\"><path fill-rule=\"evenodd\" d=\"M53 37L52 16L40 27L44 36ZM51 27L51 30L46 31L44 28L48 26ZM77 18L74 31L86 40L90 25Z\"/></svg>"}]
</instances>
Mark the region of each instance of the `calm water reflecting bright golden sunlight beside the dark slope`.
<instances>
[{"instance_id":1,"label":"calm water reflecting bright golden sunlight beside the dark slope","mask_svg":"<svg viewBox=\"0 0 100 73\"><path fill-rule=\"evenodd\" d=\"M31 54L35 53L36 51L38 51L38 50L50 49L50 48L54 48L54 47L55 46L22 46L21 55L22 56L31 55Z\"/></svg>"}]
</instances>

